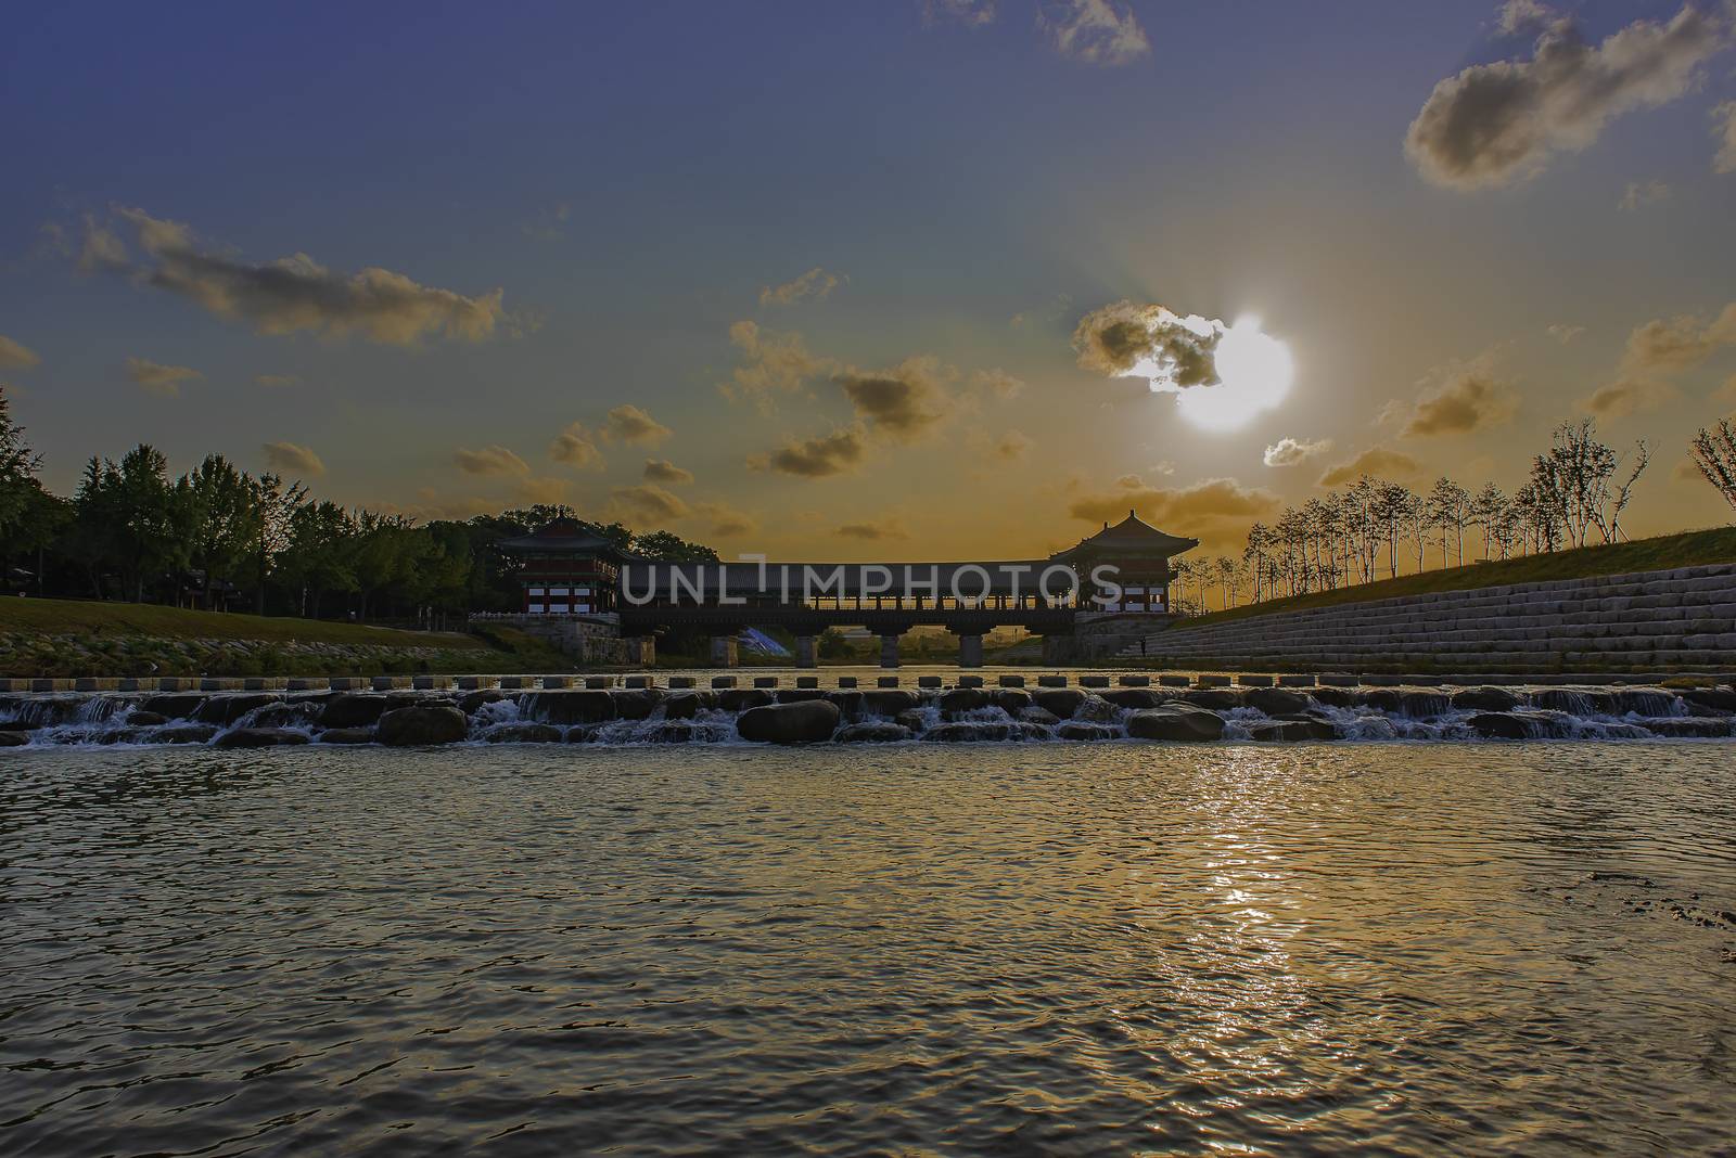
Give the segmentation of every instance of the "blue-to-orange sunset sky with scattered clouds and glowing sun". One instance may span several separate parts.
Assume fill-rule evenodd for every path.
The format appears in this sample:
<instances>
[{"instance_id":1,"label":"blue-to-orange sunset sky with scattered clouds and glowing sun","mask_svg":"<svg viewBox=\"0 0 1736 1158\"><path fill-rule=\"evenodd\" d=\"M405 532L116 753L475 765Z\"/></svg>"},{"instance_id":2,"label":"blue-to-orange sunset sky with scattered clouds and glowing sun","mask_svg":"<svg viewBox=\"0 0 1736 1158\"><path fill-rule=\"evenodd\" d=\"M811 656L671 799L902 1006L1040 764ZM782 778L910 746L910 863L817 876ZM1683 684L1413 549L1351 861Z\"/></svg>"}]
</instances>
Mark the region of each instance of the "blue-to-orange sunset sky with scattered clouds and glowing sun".
<instances>
[{"instance_id":1,"label":"blue-to-orange sunset sky with scattered clouds and glowing sun","mask_svg":"<svg viewBox=\"0 0 1736 1158\"><path fill-rule=\"evenodd\" d=\"M1210 551L1644 439L1727 522L1736 7L61 3L0 38L0 383L417 518Z\"/></svg>"}]
</instances>

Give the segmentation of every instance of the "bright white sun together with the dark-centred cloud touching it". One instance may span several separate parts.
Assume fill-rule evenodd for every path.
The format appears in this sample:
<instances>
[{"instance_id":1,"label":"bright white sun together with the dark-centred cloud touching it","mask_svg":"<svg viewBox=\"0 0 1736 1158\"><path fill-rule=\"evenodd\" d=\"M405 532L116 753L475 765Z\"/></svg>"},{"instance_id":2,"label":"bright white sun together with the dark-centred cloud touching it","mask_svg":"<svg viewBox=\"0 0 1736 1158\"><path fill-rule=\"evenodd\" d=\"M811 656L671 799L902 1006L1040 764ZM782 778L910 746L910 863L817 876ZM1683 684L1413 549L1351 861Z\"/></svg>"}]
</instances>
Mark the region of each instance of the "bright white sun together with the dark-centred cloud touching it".
<instances>
[{"instance_id":1,"label":"bright white sun together with the dark-centred cloud touching it","mask_svg":"<svg viewBox=\"0 0 1736 1158\"><path fill-rule=\"evenodd\" d=\"M1227 326L1163 305L1116 302L1073 331L1078 364L1109 378L1144 378L1174 394L1177 413L1205 430L1234 430L1290 394L1295 368L1283 342L1259 322Z\"/></svg>"}]
</instances>

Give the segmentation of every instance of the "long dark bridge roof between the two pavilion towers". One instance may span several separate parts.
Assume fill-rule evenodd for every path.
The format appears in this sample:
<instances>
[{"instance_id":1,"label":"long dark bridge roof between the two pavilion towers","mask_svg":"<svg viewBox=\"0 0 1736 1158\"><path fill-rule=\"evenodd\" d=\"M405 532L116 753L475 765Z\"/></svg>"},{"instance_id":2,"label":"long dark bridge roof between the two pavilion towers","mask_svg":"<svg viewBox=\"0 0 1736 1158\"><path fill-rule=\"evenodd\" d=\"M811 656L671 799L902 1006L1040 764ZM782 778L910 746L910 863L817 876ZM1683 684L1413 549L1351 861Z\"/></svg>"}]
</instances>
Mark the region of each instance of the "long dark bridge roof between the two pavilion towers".
<instances>
[{"instance_id":1,"label":"long dark bridge roof between the two pavilion towers","mask_svg":"<svg viewBox=\"0 0 1736 1158\"><path fill-rule=\"evenodd\" d=\"M653 563L630 560L621 569L621 593L644 598L832 598L835 595L1042 595L1038 582L1049 576L1057 598L1071 593L1073 570L1047 558L991 563ZM788 595L786 595L788 593Z\"/></svg>"}]
</instances>

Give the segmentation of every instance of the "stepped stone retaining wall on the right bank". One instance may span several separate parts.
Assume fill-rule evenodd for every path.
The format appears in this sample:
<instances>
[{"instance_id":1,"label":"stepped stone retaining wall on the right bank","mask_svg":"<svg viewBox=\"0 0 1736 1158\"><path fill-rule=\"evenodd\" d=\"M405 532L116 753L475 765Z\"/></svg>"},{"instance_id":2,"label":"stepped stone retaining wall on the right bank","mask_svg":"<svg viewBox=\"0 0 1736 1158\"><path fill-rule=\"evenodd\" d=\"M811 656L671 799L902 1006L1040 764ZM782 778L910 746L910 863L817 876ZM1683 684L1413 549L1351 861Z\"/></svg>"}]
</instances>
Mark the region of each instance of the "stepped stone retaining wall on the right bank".
<instances>
[{"instance_id":1,"label":"stepped stone retaining wall on the right bank","mask_svg":"<svg viewBox=\"0 0 1736 1158\"><path fill-rule=\"evenodd\" d=\"M1184 624L1147 636L1146 654L1174 667L1255 671L1729 671L1736 669L1736 565Z\"/></svg>"}]
</instances>

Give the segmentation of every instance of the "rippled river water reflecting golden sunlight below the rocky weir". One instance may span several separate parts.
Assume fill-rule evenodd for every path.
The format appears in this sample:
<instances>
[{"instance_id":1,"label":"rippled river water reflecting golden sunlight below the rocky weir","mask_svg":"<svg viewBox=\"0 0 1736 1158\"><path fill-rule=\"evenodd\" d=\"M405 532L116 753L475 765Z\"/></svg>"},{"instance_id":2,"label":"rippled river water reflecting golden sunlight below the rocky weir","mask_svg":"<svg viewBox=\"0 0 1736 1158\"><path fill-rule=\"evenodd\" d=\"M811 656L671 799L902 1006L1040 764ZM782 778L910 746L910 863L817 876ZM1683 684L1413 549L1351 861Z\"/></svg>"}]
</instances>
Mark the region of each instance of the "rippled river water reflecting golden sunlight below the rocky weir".
<instances>
[{"instance_id":1,"label":"rippled river water reflecting golden sunlight below the rocky weir","mask_svg":"<svg viewBox=\"0 0 1736 1158\"><path fill-rule=\"evenodd\" d=\"M1729 1153L1724 744L0 752L0 1153Z\"/></svg>"}]
</instances>

